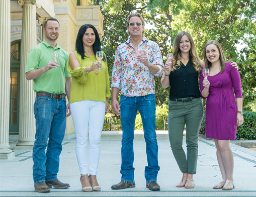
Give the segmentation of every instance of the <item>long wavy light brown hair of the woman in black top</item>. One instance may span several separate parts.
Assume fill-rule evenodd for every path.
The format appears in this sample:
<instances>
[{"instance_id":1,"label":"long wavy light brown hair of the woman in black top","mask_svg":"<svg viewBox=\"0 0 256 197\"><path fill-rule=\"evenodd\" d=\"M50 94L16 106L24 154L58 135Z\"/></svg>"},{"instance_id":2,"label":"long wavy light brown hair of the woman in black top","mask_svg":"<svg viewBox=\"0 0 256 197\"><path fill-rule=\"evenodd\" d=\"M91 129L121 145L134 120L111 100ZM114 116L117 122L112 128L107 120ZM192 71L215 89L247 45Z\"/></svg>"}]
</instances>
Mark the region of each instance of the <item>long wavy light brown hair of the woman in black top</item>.
<instances>
[{"instance_id":1,"label":"long wavy light brown hair of the woman in black top","mask_svg":"<svg viewBox=\"0 0 256 197\"><path fill-rule=\"evenodd\" d=\"M196 71L200 72L202 67L201 67L201 64L200 64L200 58L199 58L199 56L197 54L197 51L196 51L195 43L194 43L191 35L188 32L185 32L185 31L181 31L175 38L174 52L173 52L174 59L173 59L173 62L172 62L172 64L174 65L173 66L174 71L179 69L182 65L182 61L181 61L182 52L181 52L181 49L180 49L180 42L181 42L181 39L184 35L188 36L189 41L190 41L191 48L190 48L189 54L190 54L190 58L192 59L193 66L194 66Z\"/></svg>"}]
</instances>

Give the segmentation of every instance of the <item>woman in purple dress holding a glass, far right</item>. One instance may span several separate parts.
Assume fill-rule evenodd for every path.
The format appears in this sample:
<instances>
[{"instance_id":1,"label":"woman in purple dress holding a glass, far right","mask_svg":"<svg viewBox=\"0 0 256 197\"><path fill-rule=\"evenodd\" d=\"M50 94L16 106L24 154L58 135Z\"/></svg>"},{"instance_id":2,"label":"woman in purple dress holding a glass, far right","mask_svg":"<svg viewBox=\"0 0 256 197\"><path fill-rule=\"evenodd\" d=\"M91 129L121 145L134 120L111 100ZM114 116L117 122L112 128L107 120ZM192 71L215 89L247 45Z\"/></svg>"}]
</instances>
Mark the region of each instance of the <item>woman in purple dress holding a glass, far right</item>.
<instances>
[{"instance_id":1,"label":"woman in purple dress holding a glass, far right","mask_svg":"<svg viewBox=\"0 0 256 197\"><path fill-rule=\"evenodd\" d=\"M204 61L205 68L209 69L208 79L204 78L203 69L200 74L201 96L207 98L205 133L215 142L223 178L213 188L231 190L234 188L234 161L229 142L235 140L236 126L243 124L241 79L238 70L226 62L223 50L215 40L205 44Z\"/></svg>"}]
</instances>

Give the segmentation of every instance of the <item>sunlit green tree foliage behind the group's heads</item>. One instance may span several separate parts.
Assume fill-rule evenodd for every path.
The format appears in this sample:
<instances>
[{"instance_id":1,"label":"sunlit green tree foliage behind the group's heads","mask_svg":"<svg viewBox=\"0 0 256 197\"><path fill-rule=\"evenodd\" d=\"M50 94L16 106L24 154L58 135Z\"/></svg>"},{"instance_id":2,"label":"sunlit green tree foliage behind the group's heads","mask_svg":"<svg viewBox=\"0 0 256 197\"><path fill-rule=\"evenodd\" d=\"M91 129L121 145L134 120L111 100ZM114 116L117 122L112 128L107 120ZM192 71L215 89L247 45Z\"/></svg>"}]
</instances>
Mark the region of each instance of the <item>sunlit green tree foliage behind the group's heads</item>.
<instances>
[{"instance_id":1,"label":"sunlit green tree foliage behind the group's heads","mask_svg":"<svg viewBox=\"0 0 256 197\"><path fill-rule=\"evenodd\" d=\"M127 17L138 12L153 26L145 30L144 36L159 45L164 62L182 30L192 35L201 59L205 43L217 40L227 61L235 61L239 66L244 109L250 110L250 104L256 102L256 0L92 0L91 3L102 8L102 44L110 77L116 48L128 39ZM238 49L239 45L243 48ZM157 104L166 104L169 89L161 87L160 77L155 77L155 81Z\"/></svg>"}]
</instances>

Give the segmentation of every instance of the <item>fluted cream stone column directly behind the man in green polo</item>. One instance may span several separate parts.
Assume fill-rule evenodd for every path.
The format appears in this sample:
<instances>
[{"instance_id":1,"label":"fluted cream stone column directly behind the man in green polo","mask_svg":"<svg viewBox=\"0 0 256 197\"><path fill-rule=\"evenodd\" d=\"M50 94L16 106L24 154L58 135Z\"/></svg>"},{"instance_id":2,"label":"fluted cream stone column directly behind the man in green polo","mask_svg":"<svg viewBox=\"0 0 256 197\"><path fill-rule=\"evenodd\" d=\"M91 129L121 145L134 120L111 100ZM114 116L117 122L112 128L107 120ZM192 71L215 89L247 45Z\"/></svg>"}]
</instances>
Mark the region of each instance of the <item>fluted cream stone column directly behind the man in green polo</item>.
<instances>
[{"instance_id":1,"label":"fluted cream stone column directly behind the man in green polo","mask_svg":"<svg viewBox=\"0 0 256 197\"><path fill-rule=\"evenodd\" d=\"M37 45L36 41L36 6L40 8L37 0L18 0L23 7L22 33L21 33L21 76L20 76L20 124L19 140L14 149L32 149L35 141L35 118L33 105L35 92L33 80L25 77L26 63L31 49Z\"/></svg>"}]
</instances>

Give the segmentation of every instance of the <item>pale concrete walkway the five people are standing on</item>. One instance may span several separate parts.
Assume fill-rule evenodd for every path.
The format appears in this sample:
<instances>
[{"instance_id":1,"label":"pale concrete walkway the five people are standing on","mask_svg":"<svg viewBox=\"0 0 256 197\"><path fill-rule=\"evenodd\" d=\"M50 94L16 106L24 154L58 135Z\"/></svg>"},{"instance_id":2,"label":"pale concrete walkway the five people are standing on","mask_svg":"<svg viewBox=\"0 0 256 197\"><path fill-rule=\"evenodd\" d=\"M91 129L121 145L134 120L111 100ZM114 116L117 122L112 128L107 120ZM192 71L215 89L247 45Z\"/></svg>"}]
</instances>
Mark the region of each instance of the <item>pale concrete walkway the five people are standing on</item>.
<instances>
[{"instance_id":1,"label":"pale concrete walkway the five people are standing on","mask_svg":"<svg viewBox=\"0 0 256 197\"><path fill-rule=\"evenodd\" d=\"M158 132L157 132L158 133ZM162 133L162 132L160 132ZM256 151L230 144L234 154L234 184L231 191L212 189L222 178L216 158L216 149L212 140L199 138L197 174L194 175L195 188L185 189L175 185L182 173L170 149L168 135L157 134L158 159L160 171L157 182L160 191L146 188L144 168L147 165L146 144L143 134L135 135L134 167L136 187L122 190L111 189L112 184L121 180L121 132L103 132L98 182L102 191L83 192L79 181L79 168L75 156L75 140L63 141L60 155L58 178L68 182L68 189L51 189L49 193L34 190L32 177L32 150L16 150L15 158L0 160L0 196L256 196ZM10 141L14 146L17 141ZM186 143L184 141L184 148Z\"/></svg>"}]
</instances>

